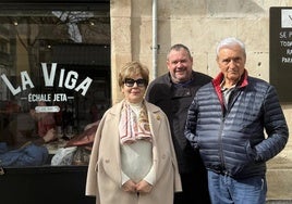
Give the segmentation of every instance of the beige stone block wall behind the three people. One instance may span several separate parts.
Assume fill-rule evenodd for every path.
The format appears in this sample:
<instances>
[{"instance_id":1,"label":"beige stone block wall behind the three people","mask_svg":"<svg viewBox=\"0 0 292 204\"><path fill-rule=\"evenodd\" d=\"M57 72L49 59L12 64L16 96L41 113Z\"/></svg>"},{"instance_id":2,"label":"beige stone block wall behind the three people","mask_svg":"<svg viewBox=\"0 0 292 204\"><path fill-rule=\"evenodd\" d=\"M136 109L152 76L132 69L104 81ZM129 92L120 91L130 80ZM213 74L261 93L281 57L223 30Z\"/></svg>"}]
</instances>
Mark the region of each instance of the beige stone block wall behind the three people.
<instances>
[{"instance_id":1,"label":"beige stone block wall behind the three people","mask_svg":"<svg viewBox=\"0 0 292 204\"><path fill-rule=\"evenodd\" d=\"M153 1L111 0L112 102L122 99L119 68L127 61L146 64L151 74L167 72L166 54L174 43L186 44L194 56L194 69L216 76L215 49L222 38L234 36L246 44L250 75L269 80L269 8L292 7L292 0L157 0L158 59L153 67ZM156 68L156 71L155 71ZM292 105L283 104L289 127ZM292 139L268 163L270 200L291 199Z\"/></svg>"}]
</instances>

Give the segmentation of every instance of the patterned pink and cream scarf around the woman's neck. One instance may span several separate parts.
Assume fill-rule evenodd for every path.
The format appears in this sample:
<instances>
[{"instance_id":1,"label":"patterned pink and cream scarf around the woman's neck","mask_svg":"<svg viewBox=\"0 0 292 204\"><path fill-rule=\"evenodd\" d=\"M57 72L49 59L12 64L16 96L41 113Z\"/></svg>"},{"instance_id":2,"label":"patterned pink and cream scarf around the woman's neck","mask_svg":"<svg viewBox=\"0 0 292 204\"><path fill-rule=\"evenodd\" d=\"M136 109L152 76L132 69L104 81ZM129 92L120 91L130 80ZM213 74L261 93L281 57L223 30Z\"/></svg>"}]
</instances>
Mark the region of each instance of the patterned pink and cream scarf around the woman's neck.
<instances>
[{"instance_id":1,"label":"patterned pink and cream scarf around the woman's neck","mask_svg":"<svg viewBox=\"0 0 292 204\"><path fill-rule=\"evenodd\" d=\"M151 142L151 132L145 104L142 105L138 118L127 103L123 104L119 132L122 144L134 143L136 140Z\"/></svg>"}]
</instances>

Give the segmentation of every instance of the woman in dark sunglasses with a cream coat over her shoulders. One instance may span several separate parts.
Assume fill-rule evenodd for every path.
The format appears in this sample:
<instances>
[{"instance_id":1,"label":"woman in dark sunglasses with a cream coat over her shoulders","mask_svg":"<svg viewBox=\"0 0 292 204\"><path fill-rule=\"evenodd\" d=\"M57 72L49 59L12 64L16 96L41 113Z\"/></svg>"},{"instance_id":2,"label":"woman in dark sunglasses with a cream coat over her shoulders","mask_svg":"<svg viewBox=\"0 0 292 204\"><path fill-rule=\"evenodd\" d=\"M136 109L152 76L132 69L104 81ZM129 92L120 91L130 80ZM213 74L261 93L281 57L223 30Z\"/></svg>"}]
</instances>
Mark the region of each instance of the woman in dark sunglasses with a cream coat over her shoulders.
<instances>
[{"instance_id":1,"label":"woman in dark sunglasses with a cream coat over her shoulders","mask_svg":"<svg viewBox=\"0 0 292 204\"><path fill-rule=\"evenodd\" d=\"M181 191L167 116L144 100L148 80L138 62L119 74L124 99L101 118L88 166L86 195L98 204L172 204Z\"/></svg>"}]
</instances>

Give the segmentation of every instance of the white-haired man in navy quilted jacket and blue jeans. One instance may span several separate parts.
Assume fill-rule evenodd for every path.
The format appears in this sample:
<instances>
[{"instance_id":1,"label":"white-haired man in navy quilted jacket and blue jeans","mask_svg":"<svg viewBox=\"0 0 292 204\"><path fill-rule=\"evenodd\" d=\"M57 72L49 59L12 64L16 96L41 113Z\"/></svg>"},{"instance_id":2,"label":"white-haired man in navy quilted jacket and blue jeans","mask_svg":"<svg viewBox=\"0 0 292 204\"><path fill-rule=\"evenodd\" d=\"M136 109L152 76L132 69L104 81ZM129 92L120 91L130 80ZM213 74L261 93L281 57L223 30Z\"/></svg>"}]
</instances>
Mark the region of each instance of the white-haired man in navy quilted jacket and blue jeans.
<instances>
[{"instance_id":1,"label":"white-haired man in navy quilted jacket and blue jeans","mask_svg":"<svg viewBox=\"0 0 292 204\"><path fill-rule=\"evenodd\" d=\"M220 74L196 92L187 113L185 137L208 170L212 204L264 204L266 162L289 137L276 89L248 76L245 62L244 43L223 39L217 47Z\"/></svg>"}]
</instances>

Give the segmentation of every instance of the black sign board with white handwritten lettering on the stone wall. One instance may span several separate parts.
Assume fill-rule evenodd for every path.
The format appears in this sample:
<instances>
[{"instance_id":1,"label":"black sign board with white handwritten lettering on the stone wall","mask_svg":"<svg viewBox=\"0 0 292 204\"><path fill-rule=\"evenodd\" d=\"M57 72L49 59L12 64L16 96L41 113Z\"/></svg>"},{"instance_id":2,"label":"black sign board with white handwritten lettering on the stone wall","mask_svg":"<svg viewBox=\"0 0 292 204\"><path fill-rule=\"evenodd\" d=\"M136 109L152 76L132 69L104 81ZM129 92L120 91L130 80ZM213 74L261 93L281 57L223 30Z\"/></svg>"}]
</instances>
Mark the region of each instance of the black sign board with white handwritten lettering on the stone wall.
<instances>
[{"instance_id":1,"label":"black sign board with white handwritten lettering on the stone wall","mask_svg":"<svg viewBox=\"0 0 292 204\"><path fill-rule=\"evenodd\" d=\"M292 102L292 8L270 8L270 84Z\"/></svg>"}]
</instances>

